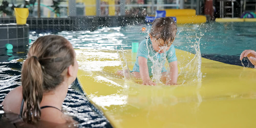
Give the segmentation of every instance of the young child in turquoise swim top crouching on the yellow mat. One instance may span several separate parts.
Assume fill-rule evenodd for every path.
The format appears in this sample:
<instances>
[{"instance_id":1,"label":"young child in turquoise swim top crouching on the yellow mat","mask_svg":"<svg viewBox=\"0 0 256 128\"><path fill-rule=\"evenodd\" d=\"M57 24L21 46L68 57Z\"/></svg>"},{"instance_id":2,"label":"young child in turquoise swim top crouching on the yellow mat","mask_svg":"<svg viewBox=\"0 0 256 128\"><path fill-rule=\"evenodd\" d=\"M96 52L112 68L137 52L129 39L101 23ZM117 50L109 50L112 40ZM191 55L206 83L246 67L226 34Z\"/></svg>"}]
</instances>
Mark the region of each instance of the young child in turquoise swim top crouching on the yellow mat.
<instances>
[{"instance_id":1,"label":"young child in turquoise swim top crouching on the yellow mat","mask_svg":"<svg viewBox=\"0 0 256 128\"><path fill-rule=\"evenodd\" d=\"M152 23L149 39L145 39L139 44L136 62L132 75L135 78L141 78L143 85L156 85L150 80L152 76L152 58L154 61L162 63L161 81L166 85L175 85L178 78L177 58L175 48L172 45L177 32L175 21L170 17L161 17L155 19ZM164 54L166 52L166 54ZM150 57L150 58L148 58ZM170 72L164 67L165 60L169 62ZM122 75L122 71L118 74Z\"/></svg>"}]
</instances>

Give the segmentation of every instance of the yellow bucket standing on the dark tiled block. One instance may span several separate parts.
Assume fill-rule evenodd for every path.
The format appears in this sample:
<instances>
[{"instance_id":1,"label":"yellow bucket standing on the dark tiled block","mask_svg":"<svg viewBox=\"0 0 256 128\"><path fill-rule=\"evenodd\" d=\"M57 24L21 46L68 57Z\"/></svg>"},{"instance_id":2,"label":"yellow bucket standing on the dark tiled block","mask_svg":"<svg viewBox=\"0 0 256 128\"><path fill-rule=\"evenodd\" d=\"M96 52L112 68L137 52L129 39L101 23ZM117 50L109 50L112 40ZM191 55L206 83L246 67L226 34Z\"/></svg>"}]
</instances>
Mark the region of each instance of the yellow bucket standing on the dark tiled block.
<instances>
[{"instance_id":1,"label":"yellow bucket standing on the dark tiled block","mask_svg":"<svg viewBox=\"0 0 256 128\"><path fill-rule=\"evenodd\" d=\"M28 8L14 8L17 24L26 24L28 18Z\"/></svg>"}]
</instances>

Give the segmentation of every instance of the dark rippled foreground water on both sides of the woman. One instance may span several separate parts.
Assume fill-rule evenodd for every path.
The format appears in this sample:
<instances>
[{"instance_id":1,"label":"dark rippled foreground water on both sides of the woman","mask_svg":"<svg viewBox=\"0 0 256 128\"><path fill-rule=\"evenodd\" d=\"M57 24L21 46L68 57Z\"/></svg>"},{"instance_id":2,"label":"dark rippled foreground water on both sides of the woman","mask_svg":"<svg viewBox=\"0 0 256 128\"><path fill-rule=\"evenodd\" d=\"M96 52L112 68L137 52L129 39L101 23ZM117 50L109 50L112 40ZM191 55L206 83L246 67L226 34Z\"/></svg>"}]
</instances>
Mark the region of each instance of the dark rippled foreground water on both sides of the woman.
<instances>
[{"instance_id":1,"label":"dark rippled foreground water on both sides of the woman","mask_svg":"<svg viewBox=\"0 0 256 128\"><path fill-rule=\"evenodd\" d=\"M19 52L18 52L19 51ZM13 49L12 52L0 53L0 103L11 89L21 85L21 66L26 59L26 50ZM69 86L63 102L63 110L67 115L80 123L80 127L112 128L106 117L87 100L77 80ZM2 115L0 114L0 117ZM15 120L17 118L11 118ZM1 121L1 118L0 118ZM1 124L2 125L2 124Z\"/></svg>"}]
</instances>

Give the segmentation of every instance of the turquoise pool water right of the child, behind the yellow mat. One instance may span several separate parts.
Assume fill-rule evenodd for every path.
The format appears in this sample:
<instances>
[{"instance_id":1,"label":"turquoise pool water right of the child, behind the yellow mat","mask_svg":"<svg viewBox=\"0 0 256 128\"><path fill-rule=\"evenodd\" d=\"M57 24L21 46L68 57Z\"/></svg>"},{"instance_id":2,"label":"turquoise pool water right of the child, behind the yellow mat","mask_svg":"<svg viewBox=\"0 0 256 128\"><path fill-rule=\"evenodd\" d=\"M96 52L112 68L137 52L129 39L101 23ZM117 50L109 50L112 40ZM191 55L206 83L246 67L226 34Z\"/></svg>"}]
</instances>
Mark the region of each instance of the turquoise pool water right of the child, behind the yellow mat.
<instances>
[{"instance_id":1,"label":"turquoise pool water right of the child, behind the yellow mat","mask_svg":"<svg viewBox=\"0 0 256 128\"><path fill-rule=\"evenodd\" d=\"M200 40L202 54L239 55L245 49L256 50L256 23L209 23L180 26L180 34L175 42L176 48L189 51L195 33ZM191 41L191 43L190 43Z\"/></svg>"}]
</instances>

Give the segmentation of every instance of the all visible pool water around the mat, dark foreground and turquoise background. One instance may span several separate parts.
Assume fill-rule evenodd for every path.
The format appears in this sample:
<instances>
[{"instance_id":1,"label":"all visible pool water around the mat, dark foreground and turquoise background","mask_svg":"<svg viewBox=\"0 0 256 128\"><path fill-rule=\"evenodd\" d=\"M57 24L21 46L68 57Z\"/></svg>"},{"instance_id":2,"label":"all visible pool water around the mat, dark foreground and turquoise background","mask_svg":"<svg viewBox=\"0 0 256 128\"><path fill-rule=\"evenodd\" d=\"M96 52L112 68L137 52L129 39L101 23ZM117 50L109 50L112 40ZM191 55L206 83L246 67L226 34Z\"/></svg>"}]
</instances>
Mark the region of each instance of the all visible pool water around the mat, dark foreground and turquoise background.
<instances>
[{"instance_id":1,"label":"all visible pool water around the mat, dark foreground and turquoise background","mask_svg":"<svg viewBox=\"0 0 256 128\"><path fill-rule=\"evenodd\" d=\"M141 28L150 29L150 25L127 25L123 27L105 28L97 30L37 33L30 32L30 39L57 34L67 38L74 48L116 50L131 49L132 42L141 42L147 37L147 32ZM207 23L178 25L178 33L174 45L176 48L195 53L195 45L200 43L201 54L204 58L221 61L233 65L240 65L239 54L245 49L256 50L256 23ZM0 102L9 91L20 83L21 65L26 59L27 50L0 50ZM245 63L245 62L244 62ZM245 64L246 65L246 64ZM63 109L80 123L81 127L111 127L106 117L102 115L85 97L79 83L70 85Z\"/></svg>"}]
</instances>

